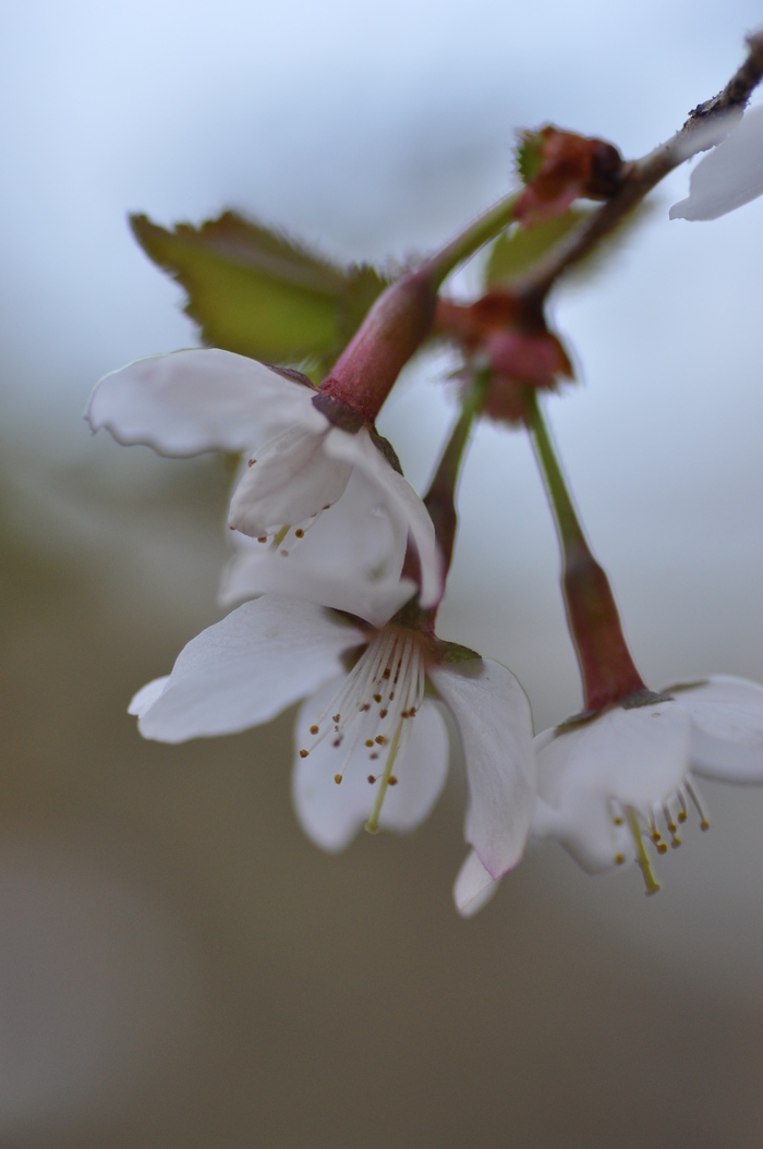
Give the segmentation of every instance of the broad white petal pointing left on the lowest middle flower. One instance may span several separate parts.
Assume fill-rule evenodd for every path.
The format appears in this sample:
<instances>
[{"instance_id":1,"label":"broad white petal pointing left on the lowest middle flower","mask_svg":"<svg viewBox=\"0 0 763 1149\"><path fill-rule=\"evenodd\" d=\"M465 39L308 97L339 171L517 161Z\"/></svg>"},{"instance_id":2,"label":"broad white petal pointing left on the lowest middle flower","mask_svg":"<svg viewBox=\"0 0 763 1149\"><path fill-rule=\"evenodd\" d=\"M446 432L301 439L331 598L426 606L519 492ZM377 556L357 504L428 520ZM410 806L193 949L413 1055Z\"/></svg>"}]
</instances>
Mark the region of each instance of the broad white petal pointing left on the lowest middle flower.
<instances>
[{"instance_id":1,"label":"broad white petal pointing left on the lowest middle flower","mask_svg":"<svg viewBox=\"0 0 763 1149\"><path fill-rule=\"evenodd\" d=\"M138 728L184 742L269 722L336 674L341 653L362 641L361 631L313 603L271 595L247 602L180 651L162 693L141 705Z\"/></svg>"}]
</instances>

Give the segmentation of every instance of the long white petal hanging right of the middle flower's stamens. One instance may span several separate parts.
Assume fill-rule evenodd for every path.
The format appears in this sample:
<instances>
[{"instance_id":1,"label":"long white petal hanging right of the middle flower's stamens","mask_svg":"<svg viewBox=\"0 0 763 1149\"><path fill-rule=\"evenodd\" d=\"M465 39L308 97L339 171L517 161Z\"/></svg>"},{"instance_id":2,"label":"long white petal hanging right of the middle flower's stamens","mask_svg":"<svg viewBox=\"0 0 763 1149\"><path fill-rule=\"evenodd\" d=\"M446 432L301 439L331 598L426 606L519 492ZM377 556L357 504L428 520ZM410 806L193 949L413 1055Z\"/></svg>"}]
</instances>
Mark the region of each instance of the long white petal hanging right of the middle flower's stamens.
<instances>
[{"instance_id":1,"label":"long white petal hanging right of the middle flower's stamens","mask_svg":"<svg viewBox=\"0 0 763 1149\"><path fill-rule=\"evenodd\" d=\"M524 851L534 802L530 704L504 666L444 664L430 678L455 718L469 780L465 836L493 878Z\"/></svg>"}]
</instances>

